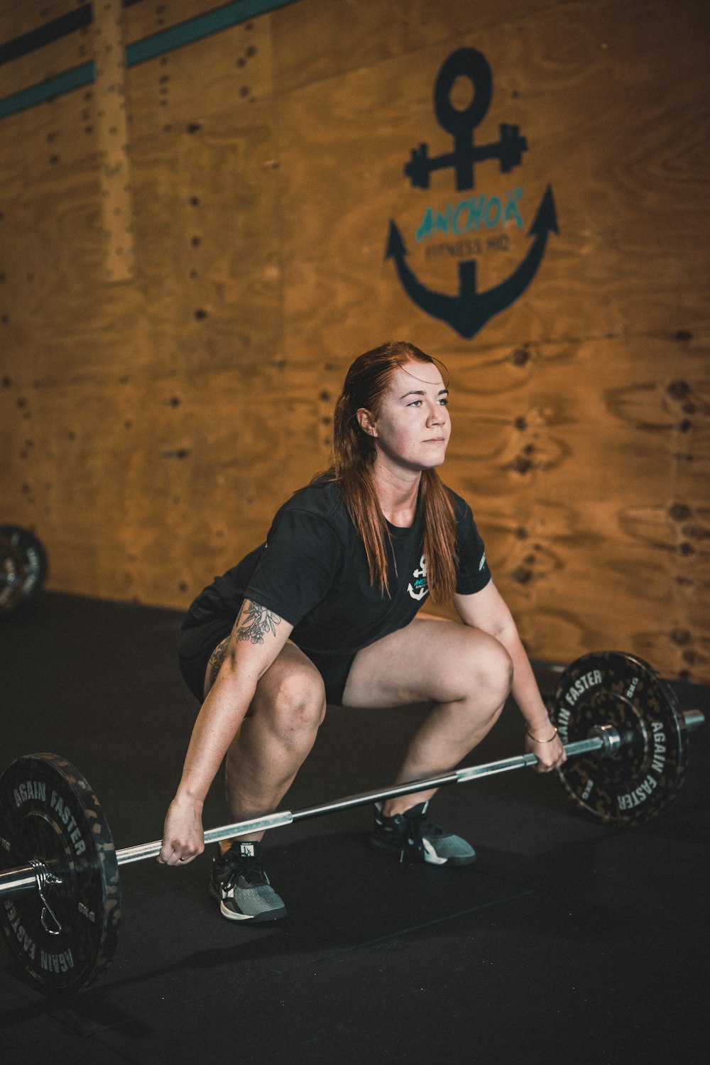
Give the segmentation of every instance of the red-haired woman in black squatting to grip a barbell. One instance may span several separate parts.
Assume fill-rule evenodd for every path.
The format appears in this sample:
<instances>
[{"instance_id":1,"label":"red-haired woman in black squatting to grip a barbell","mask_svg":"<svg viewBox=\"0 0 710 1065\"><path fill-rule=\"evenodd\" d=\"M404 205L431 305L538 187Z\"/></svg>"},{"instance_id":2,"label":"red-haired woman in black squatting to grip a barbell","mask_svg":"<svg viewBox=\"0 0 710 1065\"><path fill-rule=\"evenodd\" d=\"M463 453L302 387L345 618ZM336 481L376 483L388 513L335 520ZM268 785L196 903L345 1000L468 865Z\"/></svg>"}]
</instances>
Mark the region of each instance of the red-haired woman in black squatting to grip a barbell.
<instances>
[{"instance_id":1,"label":"red-haired woman in black squatting to grip a barbell","mask_svg":"<svg viewBox=\"0 0 710 1065\"><path fill-rule=\"evenodd\" d=\"M431 704L396 782L455 767L511 692L526 748L549 771L564 760L513 619L485 562L467 504L436 468L448 389L437 363L406 343L350 366L334 420L334 466L277 513L266 544L193 603L181 666L202 708L170 804L159 861L204 849L204 797L226 761L229 813L274 810L315 740L326 703ZM417 616L453 601L463 624ZM473 848L426 819L433 790L377 806L371 846L399 859L465 865ZM285 914L262 868L261 833L220 847L211 891L231 920Z\"/></svg>"}]
</instances>

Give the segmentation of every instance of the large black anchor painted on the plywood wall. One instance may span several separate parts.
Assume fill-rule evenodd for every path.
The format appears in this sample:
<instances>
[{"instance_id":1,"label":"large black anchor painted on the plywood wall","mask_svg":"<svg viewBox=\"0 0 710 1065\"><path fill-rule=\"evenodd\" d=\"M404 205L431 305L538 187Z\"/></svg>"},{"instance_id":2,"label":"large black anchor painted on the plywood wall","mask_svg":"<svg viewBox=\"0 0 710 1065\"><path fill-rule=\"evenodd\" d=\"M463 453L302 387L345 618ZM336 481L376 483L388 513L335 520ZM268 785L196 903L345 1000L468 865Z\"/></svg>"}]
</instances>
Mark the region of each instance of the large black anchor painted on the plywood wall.
<instances>
[{"instance_id":1,"label":"large black anchor painted on the plywood wall","mask_svg":"<svg viewBox=\"0 0 710 1065\"><path fill-rule=\"evenodd\" d=\"M467 78L474 88L472 102L457 111L450 102L450 92L458 77ZM476 164L498 160L501 174L521 166L523 152L528 150L527 138L517 126L501 124L499 140L494 144L476 146L474 130L482 121L491 105L493 78L488 61L473 48L460 48L443 63L434 82L434 113L440 126L453 137L453 151L429 158L428 145L413 148L404 175L415 189L428 189L433 170L451 168L456 174L457 190L473 189ZM510 307L527 289L543 260L547 237L559 233L552 190L548 185L535 213L528 236L533 243L516 269L500 284L485 292L477 291L477 263L475 259L460 262L459 293L449 296L424 285L407 265L409 255L402 235L390 220L390 232L384 258L393 259L400 283L423 311L446 322L460 337L470 340L495 314Z\"/></svg>"}]
</instances>

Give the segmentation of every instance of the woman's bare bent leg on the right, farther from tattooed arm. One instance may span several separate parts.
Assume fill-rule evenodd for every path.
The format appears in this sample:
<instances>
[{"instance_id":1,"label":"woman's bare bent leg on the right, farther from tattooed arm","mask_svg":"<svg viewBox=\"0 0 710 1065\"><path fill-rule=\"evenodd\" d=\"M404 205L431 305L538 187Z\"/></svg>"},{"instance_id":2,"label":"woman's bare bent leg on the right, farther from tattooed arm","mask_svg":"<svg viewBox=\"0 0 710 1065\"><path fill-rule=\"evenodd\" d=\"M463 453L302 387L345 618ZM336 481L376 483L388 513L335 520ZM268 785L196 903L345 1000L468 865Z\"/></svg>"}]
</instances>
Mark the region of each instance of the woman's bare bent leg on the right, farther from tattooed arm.
<instances>
[{"instance_id":1,"label":"woman's bare bent leg on the right, farther from tattooed arm","mask_svg":"<svg viewBox=\"0 0 710 1065\"><path fill-rule=\"evenodd\" d=\"M512 663L493 637L470 626L415 618L356 656L343 697L352 707L433 703L412 737L395 783L451 770L492 728L510 693ZM387 800L393 817L435 789Z\"/></svg>"}]
</instances>

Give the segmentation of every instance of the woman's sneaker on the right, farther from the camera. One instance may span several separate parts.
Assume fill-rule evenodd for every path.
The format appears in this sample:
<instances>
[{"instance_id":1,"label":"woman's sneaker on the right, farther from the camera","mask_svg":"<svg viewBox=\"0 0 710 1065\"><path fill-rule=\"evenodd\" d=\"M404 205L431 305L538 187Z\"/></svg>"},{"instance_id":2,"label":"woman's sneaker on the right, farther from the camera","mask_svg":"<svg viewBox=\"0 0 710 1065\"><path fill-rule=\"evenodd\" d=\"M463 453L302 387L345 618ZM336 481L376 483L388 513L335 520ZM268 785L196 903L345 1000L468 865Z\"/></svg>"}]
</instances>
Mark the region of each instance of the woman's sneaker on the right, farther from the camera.
<instances>
[{"instance_id":1,"label":"woman's sneaker on the right, farther from the camera","mask_svg":"<svg viewBox=\"0 0 710 1065\"><path fill-rule=\"evenodd\" d=\"M375 832L369 846L399 862L428 862L430 865L469 865L476 851L462 839L427 820L429 803L419 803L403 814L384 817L382 804L375 803Z\"/></svg>"}]
</instances>

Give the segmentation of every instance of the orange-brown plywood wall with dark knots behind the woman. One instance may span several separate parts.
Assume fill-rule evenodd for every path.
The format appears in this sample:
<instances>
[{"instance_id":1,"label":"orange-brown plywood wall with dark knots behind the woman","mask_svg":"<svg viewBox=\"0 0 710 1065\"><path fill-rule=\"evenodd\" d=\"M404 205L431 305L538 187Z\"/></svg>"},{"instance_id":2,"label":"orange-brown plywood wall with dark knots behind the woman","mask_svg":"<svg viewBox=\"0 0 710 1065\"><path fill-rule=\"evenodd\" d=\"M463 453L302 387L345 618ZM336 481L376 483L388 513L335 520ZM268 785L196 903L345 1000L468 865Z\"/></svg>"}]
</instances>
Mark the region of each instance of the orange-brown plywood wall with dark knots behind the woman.
<instances>
[{"instance_id":1,"label":"orange-brown plywood wall with dark knots behind the woman","mask_svg":"<svg viewBox=\"0 0 710 1065\"><path fill-rule=\"evenodd\" d=\"M6 5L0 45L77 6ZM103 36L0 64L1 104L106 33L134 58L0 117L0 518L40 536L50 587L186 606L328 464L351 359L409 339L450 368L446 478L530 652L709 681L707 4L298 0L131 52L213 6L114 3ZM411 150L451 151L432 89L459 48L493 75L476 143L508 124L527 150L414 189ZM394 222L422 284L455 296L475 259L484 293L548 187L532 281L473 337L384 258ZM473 196L493 224L464 207L466 232L416 240Z\"/></svg>"}]
</instances>

